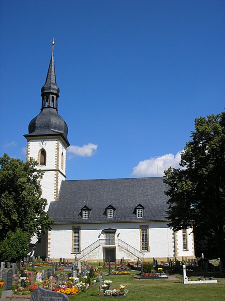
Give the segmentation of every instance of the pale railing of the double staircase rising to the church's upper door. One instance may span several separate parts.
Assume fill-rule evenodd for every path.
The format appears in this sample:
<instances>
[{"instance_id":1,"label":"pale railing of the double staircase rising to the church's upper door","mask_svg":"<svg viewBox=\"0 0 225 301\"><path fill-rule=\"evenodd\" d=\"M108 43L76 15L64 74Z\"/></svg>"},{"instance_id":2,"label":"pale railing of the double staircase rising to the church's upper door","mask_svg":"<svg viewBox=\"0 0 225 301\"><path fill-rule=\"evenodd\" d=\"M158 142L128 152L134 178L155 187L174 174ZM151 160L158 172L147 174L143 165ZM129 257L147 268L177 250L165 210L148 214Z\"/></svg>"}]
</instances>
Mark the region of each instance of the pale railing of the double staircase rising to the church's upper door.
<instances>
[{"instance_id":1,"label":"pale railing of the double staircase rising to the church's upper door","mask_svg":"<svg viewBox=\"0 0 225 301\"><path fill-rule=\"evenodd\" d=\"M83 249L79 254L76 255L76 258L80 259L90 253L92 250L96 249L99 246L120 246L123 247L126 251L131 253L135 257L139 257L139 259L144 258L144 254L140 252L139 250L135 249L128 243L122 241L121 239L118 238L110 238L110 239L98 239L89 246L87 246L85 249Z\"/></svg>"}]
</instances>

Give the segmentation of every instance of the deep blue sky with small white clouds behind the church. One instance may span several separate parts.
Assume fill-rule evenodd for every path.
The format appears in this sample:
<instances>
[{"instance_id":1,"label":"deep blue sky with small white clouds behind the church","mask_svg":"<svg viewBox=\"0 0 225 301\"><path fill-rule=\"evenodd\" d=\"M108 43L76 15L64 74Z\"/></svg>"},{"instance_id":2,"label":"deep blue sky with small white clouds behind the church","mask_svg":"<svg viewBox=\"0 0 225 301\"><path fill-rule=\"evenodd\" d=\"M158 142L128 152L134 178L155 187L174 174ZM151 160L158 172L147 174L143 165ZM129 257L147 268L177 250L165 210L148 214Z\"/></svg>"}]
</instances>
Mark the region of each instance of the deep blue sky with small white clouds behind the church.
<instances>
[{"instance_id":1,"label":"deep blue sky with small white clouds behind the church","mask_svg":"<svg viewBox=\"0 0 225 301\"><path fill-rule=\"evenodd\" d=\"M25 160L56 38L71 179L162 175L224 109L224 1L0 2L0 156Z\"/></svg>"}]
</instances>

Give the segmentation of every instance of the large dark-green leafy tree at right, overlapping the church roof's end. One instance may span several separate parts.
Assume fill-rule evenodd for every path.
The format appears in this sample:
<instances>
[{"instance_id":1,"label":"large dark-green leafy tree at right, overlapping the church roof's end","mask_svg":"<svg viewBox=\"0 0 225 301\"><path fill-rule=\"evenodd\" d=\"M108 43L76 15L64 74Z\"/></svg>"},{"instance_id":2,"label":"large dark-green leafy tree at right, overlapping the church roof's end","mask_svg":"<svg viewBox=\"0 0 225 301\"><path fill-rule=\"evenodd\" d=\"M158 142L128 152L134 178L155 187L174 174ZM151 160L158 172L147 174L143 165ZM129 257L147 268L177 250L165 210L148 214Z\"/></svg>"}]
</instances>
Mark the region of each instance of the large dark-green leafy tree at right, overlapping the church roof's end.
<instances>
[{"instance_id":1,"label":"large dark-green leafy tree at right, overlapping the church roof's end","mask_svg":"<svg viewBox=\"0 0 225 301\"><path fill-rule=\"evenodd\" d=\"M164 172L168 223L175 231L196 229L198 239L214 236L225 263L225 113L195 119L179 169Z\"/></svg>"}]
</instances>

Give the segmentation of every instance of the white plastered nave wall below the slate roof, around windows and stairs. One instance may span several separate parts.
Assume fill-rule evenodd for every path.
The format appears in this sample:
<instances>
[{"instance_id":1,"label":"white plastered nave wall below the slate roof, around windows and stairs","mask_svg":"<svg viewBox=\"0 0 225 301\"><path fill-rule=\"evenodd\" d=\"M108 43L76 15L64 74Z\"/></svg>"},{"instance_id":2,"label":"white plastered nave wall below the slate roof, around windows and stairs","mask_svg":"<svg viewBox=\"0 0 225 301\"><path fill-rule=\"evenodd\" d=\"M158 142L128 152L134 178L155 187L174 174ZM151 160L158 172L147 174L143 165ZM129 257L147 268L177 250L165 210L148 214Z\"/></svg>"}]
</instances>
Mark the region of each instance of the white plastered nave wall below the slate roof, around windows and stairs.
<instances>
[{"instance_id":1,"label":"white plastered nave wall below the slate roof, around windows and stairs","mask_svg":"<svg viewBox=\"0 0 225 301\"><path fill-rule=\"evenodd\" d=\"M148 225L149 252L144 252L144 258L166 258L173 256L172 230L166 222L151 223L104 223L79 225L52 225L50 231L50 258L74 258L72 253L72 227L80 227L80 250L83 250L98 239L104 239L103 229L116 229L115 238L140 250L140 225ZM128 256L128 257L127 257ZM132 256L116 246L116 258L130 258ZM102 260L102 246L89 255L89 259Z\"/></svg>"}]
</instances>

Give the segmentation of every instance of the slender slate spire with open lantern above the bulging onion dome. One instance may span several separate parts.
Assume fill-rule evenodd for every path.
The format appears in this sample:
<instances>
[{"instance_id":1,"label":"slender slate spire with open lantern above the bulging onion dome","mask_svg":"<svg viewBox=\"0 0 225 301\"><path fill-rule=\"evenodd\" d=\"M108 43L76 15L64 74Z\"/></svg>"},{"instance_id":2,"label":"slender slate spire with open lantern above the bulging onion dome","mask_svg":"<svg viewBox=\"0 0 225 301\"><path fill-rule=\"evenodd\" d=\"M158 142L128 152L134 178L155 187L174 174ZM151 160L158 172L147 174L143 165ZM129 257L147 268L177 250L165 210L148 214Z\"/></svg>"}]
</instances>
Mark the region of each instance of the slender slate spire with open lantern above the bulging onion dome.
<instances>
[{"instance_id":1,"label":"slender slate spire with open lantern above the bulging onion dome","mask_svg":"<svg viewBox=\"0 0 225 301\"><path fill-rule=\"evenodd\" d=\"M41 88L41 97L43 107L53 107L57 110L57 99L59 97L59 88L56 84L55 71L54 71L54 57L53 57L53 47L54 47L54 38L52 40L52 52L51 59L47 71L47 76L43 87Z\"/></svg>"}]
</instances>

